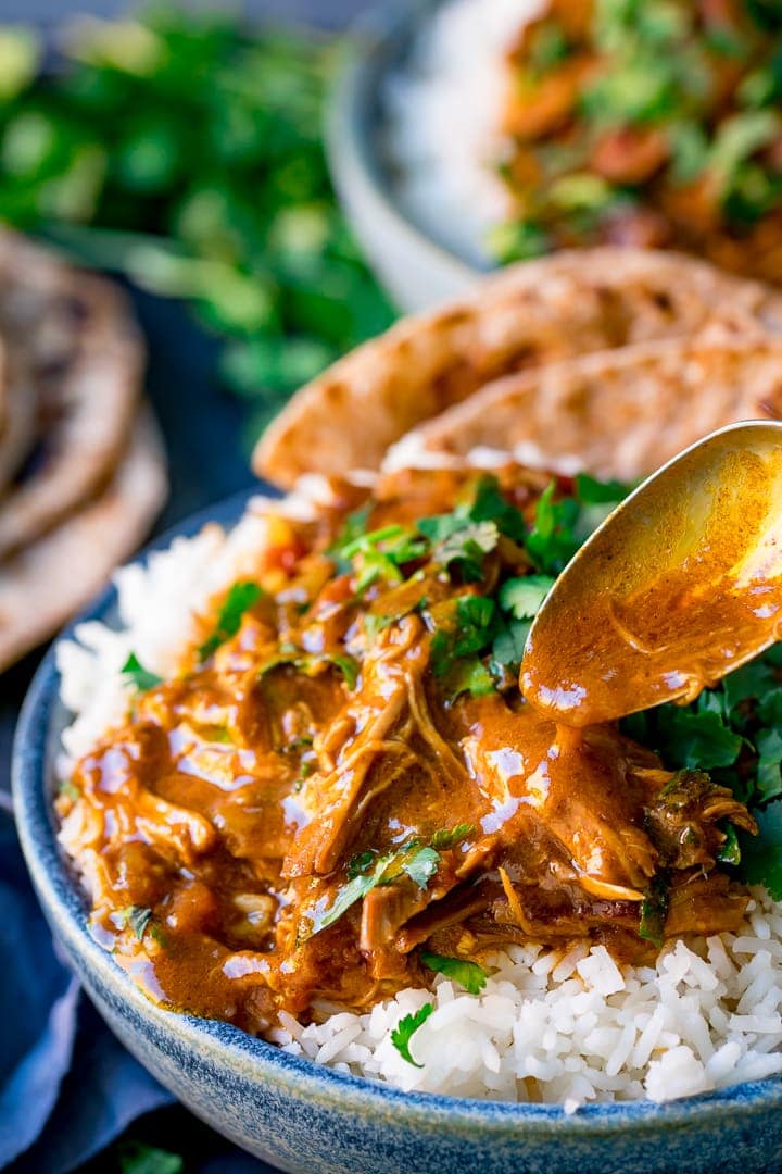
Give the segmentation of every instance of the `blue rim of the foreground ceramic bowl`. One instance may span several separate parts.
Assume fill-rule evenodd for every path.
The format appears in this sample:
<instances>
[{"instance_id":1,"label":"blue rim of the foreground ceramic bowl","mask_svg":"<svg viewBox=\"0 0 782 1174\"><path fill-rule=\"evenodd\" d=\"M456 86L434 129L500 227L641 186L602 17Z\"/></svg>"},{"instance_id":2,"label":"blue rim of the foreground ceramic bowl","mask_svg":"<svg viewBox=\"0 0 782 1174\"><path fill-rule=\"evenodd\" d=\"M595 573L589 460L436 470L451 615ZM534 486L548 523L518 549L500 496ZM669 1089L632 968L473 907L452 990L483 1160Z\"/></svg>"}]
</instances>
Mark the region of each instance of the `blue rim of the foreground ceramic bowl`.
<instances>
[{"instance_id":1,"label":"blue rim of the foreground ceramic bowl","mask_svg":"<svg viewBox=\"0 0 782 1174\"><path fill-rule=\"evenodd\" d=\"M256 490L242 491L212 507L171 527L131 560L143 564L150 553L170 546L175 538L192 537L206 522L231 526L238 521ZM59 672L55 656L62 640L74 639L77 625L89 620L111 619L117 599L109 585L57 637L47 652L30 684L19 718L14 750L12 784L16 826L27 866L39 900L56 926L56 933L77 957L80 964L95 972L109 990L118 992L142 1019L151 1020L163 1033L175 1037L181 1047L208 1053L216 1064L256 1081L266 1079L278 1091L317 1100L346 1113L404 1114L410 1125L447 1125L449 1131L470 1129L480 1125L496 1134L514 1133L531 1136L596 1136L633 1128L645 1132L666 1127L716 1120L726 1112L762 1113L782 1108L782 1077L769 1077L712 1093L658 1105L651 1101L613 1101L591 1104L573 1114L559 1105L524 1105L518 1102L477 1100L438 1093L403 1092L389 1085L335 1072L305 1057L291 1055L273 1044L247 1034L220 1020L199 1019L166 1011L151 1003L132 979L89 935L84 903L59 849L50 805L48 776L53 772L53 748L64 708L59 700Z\"/></svg>"}]
</instances>

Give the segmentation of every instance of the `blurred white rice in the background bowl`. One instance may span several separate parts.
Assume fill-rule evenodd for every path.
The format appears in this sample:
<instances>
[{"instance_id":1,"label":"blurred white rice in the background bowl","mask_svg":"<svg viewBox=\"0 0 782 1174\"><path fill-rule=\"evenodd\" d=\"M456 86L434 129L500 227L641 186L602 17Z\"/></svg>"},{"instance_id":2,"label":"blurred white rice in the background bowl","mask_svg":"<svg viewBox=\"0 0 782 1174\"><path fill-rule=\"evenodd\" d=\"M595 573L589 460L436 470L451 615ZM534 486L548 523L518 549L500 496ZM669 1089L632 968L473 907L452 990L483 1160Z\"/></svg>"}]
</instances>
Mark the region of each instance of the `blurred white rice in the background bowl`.
<instances>
[{"instance_id":1,"label":"blurred white rice in the background bowl","mask_svg":"<svg viewBox=\"0 0 782 1174\"><path fill-rule=\"evenodd\" d=\"M408 215L442 244L488 259L487 230L509 212L495 174L501 58L544 0L450 0L422 27L383 95L387 150Z\"/></svg>"}]
</instances>

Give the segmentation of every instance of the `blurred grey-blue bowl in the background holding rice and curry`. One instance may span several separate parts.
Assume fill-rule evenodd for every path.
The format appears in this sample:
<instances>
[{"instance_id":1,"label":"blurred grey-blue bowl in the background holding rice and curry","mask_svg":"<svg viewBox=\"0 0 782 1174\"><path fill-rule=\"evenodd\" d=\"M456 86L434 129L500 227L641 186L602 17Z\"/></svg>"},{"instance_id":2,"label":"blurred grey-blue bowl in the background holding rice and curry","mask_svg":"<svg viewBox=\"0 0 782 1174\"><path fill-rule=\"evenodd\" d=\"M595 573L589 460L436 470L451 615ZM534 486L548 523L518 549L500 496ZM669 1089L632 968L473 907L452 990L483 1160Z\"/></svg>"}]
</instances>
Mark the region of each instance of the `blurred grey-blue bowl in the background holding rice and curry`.
<instances>
[{"instance_id":1,"label":"blurred grey-blue bowl in the background holding rice and curry","mask_svg":"<svg viewBox=\"0 0 782 1174\"><path fill-rule=\"evenodd\" d=\"M394 194L393 161L383 157L385 80L440 2L397 0L356 22L326 123L340 200L378 277L409 312L458 297L482 272L475 257L457 255L409 218Z\"/></svg>"}]
</instances>

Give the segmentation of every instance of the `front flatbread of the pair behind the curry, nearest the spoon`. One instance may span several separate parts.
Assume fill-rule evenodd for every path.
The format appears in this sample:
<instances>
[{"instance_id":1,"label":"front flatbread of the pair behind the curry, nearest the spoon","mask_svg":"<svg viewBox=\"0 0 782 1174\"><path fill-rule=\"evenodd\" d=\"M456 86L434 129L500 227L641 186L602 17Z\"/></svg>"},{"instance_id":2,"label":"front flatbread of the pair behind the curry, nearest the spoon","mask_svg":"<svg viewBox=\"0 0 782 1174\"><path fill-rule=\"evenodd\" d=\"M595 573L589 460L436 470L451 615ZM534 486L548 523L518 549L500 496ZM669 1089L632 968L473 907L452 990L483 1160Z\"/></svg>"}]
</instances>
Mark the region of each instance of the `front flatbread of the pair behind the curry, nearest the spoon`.
<instances>
[{"instance_id":1,"label":"front flatbread of the pair behind the curry, nearest the spoon","mask_svg":"<svg viewBox=\"0 0 782 1174\"><path fill-rule=\"evenodd\" d=\"M498 379L408 433L385 467L511 453L537 468L633 480L756 417L782 417L782 339L640 343Z\"/></svg>"}]
</instances>

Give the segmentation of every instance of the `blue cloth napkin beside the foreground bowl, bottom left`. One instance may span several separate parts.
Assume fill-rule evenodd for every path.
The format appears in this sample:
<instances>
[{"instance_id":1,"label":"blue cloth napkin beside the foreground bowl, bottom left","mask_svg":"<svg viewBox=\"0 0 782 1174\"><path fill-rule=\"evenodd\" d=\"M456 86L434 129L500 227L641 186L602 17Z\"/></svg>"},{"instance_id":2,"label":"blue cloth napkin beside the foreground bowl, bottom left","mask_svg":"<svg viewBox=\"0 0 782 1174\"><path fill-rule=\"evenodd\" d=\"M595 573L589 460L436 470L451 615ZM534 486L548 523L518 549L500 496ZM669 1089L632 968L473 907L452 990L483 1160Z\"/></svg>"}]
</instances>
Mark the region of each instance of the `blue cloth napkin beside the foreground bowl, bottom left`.
<instances>
[{"instance_id":1,"label":"blue cloth napkin beside the foreground bowl, bottom left","mask_svg":"<svg viewBox=\"0 0 782 1174\"><path fill-rule=\"evenodd\" d=\"M19 1169L64 1174L172 1097L103 1026L57 959L6 811L0 958L0 1168L26 1155Z\"/></svg>"}]
</instances>

